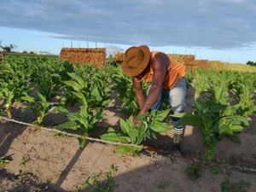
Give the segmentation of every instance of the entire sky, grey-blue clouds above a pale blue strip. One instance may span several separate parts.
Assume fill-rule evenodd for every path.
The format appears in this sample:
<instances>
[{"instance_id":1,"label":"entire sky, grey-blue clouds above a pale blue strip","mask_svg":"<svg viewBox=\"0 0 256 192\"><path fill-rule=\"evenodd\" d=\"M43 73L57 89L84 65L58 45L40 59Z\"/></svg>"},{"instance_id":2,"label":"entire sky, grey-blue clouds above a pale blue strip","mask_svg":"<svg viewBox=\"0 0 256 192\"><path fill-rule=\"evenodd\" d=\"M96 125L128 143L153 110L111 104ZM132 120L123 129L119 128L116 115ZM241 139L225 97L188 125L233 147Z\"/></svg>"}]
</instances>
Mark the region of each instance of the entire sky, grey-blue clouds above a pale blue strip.
<instances>
[{"instance_id":1,"label":"entire sky, grey-blue clouds above a pale blue strip","mask_svg":"<svg viewBox=\"0 0 256 192\"><path fill-rule=\"evenodd\" d=\"M256 61L255 0L9 0L0 7L2 45L151 50L196 59Z\"/></svg>"}]
</instances>

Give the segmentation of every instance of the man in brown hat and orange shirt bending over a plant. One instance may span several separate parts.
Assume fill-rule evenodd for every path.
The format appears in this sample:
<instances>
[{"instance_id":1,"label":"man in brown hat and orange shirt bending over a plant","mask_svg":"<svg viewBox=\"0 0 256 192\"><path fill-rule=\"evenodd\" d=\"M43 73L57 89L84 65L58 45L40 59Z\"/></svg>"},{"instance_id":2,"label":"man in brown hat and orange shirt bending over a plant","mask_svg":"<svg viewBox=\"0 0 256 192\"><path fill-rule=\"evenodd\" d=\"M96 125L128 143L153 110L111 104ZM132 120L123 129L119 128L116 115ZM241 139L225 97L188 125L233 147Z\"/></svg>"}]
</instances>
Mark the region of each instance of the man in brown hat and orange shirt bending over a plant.
<instances>
[{"instance_id":1,"label":"man in brown hat and orange shirt bending over a plant","mask_svg":"<svg viewBox=\"0 0 256 192\"><path fill-rule=\"evenodd\" d=\"M148 46L132 46L125 51L122 64L126 75L132 77L137 103L140 108L137 116L150 110L159 109L164 97L172 106L172 113L183 113L185 107L186 82L185 67L172 57L160 51L150 52ZM150 82L147 96L144 96L141 81ZM177 127L178 119L172 118L174 126L172 152L181 155L180 143L184 127ZM135 125L139 125L134 120Z\"/></svg>"}]
</instances>

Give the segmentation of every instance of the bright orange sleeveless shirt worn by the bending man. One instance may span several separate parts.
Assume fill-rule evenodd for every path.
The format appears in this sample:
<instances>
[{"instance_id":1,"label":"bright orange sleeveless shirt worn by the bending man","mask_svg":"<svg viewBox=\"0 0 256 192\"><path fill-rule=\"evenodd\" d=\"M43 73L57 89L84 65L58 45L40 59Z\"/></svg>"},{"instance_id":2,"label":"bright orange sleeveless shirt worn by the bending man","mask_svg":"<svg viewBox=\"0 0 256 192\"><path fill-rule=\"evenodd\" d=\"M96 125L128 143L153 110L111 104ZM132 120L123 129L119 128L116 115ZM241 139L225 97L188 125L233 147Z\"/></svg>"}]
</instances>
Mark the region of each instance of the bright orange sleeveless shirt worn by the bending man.
<instances>
[{"instance_id":1,"label":"bright orange sleeveless shirt worn by the bending man","mask_svg":"<svg viewBox=\"0 0 256 192\"><path fill-rule=\"evenodd\" d=\"M146 82L152 82L153 80L154 71L152 68L152 64L153 64L154 55L157 53L159 53L159 51L151 52L151 57L149 61L150 70L148 74L146 74L146 76L144 77L144 80ZM163 90L169 90L172 87L174 87L174 85L177 83L177 80L185 76L185 70L186 70L186 67L182 63L179 63L173 60L172 57L169 55L168 57L169 57L170 63L169 63L169 66L167 67L166 78L163 83Z\"/></svg>"}]
</instances>

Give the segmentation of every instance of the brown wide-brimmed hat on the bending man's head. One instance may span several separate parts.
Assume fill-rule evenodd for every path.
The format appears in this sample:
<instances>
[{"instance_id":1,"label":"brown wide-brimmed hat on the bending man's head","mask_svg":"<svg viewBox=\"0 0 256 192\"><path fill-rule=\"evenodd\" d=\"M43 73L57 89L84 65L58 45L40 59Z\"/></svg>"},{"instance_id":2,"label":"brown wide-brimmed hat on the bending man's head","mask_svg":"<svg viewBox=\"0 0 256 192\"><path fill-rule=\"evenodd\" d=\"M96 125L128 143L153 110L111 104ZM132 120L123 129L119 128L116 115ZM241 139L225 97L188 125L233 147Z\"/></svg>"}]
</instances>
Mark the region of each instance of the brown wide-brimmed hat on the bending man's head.
<instances>
[{"instance_id":1,"label":"brown wide-brimmed hat on the bending man's head","mask_svg":"<svg viewBox=\"0 0 256 192\"><path fill-rule=\"evenodd\" d=\"M148 66L149 59L150 51L147 45L127 49L122 65L124 73L131 77L137 76Z\"/></svg>"}]
</instances>

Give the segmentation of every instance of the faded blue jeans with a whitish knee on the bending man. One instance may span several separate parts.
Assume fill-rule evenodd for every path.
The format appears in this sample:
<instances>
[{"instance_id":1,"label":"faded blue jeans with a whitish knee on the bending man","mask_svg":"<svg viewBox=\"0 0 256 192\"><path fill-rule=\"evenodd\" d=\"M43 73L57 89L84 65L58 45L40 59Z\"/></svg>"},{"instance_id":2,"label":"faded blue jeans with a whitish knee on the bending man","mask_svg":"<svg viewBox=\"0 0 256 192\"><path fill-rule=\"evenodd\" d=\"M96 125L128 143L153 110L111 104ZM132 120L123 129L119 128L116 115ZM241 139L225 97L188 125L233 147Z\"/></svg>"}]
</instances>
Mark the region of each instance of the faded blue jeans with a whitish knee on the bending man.
<instances>
[{"instance_id":1,"label":"faded blue jeans with a whitish knee on the bending man","mask_svg":"<svg viewBox=\"0 0 256 192\"><path fill-rule=\"evenodd\" d=\"M147 90L150 89L150 85ZM183 113L186 105L186 90L187 90L187 79L185 77L178 79L177 83L170 90L162 90L160 96L154 102L154 105L150 108L151 110L160 109L162 102L165 98L168 99L168 103L172 107L172 113ZM178 118L172 118L172 125L175 126Z\"/></svg>"}]
</instances>

